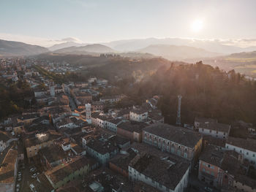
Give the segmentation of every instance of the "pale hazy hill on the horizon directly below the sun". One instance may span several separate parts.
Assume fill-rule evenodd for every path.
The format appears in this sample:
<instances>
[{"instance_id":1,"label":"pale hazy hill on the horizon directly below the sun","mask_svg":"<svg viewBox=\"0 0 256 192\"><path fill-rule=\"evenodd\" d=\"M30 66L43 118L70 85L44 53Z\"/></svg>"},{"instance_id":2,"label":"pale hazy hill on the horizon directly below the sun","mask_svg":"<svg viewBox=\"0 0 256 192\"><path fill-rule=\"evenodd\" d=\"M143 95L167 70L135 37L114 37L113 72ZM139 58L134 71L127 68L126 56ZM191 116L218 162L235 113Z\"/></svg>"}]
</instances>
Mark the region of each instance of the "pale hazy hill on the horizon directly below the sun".
<instances>
[{"instance_id":1,"label":"pale hazy hill on the horizon directly below the sun","mask_svg":"<svg viewBox=\"0 0 256 192\"><path fill-rule=\"evenodd\" d=\"M169 60L184 60L187 58L208 58L220 55L219 53L211 53L197 47L176 45L149 45L148 47L139 50L139 52L159 55Z\"/></svg>"}]
</instances>

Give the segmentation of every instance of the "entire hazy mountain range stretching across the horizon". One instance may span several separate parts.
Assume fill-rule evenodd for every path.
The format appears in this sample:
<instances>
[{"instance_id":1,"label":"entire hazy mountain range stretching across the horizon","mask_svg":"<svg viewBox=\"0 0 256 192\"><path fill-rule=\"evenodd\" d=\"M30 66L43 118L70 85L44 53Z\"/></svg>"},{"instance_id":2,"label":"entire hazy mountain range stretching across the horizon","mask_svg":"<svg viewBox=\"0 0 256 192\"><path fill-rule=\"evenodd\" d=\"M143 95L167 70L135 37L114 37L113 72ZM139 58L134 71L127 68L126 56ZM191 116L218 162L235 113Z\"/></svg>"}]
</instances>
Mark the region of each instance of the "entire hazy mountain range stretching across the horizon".
<instances>
[{"instance_id":1,"label":"entire hazy mountain range stretching across the horizon","mask_svg":"<svg viewBox=\"0 0 256 192\"><path fill-rule=\"evenodd\" d=\"M65 41L63 41L65 40ZM41 53L59 54L91 54L116 53L122 56L144 57L162 56L169 60L186 60L192 58L214 58L231 53L251 52L256 47L236 47L223 45L215 40L181 39L181 38L148 38L119 40L101 44L88 44L74 38L61 39L59 44L52 47L40 47L23 42L0 40L0 56L38 55Z\"/></svg>"}]
</instances>

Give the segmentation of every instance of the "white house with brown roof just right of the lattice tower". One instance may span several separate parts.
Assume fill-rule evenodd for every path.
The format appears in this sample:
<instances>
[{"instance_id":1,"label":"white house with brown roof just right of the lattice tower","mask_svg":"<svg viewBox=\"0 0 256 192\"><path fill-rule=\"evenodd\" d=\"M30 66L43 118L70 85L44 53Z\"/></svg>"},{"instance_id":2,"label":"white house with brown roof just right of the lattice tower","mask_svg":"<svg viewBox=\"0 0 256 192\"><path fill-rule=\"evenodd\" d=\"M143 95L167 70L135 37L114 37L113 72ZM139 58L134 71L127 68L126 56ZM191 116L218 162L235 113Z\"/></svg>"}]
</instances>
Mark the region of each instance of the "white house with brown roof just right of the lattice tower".
<instances>
[{"instance_id":1,"label":"white house with brown roof just right of the lattice tower","mask_svg":"<svg viewBox=\"0 0 256 192\"><path fill-rule=\"evenodd\" d=\"M222 139L227 139L230 134L230 125L223 123L200 123L198 129L201 134Z\"/></svg>"}]
</instances>

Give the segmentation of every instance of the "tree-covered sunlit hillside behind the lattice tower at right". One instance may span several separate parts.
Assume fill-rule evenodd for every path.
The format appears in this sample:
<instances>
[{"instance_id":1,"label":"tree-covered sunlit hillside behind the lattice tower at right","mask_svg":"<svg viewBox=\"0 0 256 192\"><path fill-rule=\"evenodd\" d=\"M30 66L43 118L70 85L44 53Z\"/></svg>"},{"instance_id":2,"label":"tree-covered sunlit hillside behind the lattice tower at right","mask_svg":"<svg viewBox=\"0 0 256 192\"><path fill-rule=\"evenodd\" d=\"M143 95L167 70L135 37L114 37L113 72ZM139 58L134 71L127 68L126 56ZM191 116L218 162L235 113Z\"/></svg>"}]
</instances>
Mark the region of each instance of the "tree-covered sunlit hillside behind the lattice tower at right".
<instances>
[{"instance_id":1,"label":"tree-covered sunlit hillside behind the lattice tower at right","mask_svg":"<svg viewBox=\"0 0 256 192\"><path fill-rule=\"evenodd\" d=\"M181 94L183 123L203 116L224 123L245 120L256 124L256 83L201 62L161 68L133 92L142 98L162 95L159 108L169 123L176 121L177 95Z\"/></svg>"}]
</instances>

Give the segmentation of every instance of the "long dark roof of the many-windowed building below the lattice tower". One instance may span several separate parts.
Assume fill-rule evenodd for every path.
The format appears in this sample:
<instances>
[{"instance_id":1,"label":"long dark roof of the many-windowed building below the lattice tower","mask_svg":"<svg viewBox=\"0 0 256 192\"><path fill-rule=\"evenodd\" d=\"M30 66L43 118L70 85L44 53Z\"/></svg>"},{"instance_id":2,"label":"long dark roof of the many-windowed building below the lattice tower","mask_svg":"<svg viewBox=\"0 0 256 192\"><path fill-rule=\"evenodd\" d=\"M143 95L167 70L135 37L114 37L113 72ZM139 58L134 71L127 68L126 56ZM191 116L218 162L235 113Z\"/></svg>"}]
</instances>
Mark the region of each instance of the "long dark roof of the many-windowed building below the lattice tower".
<instances>
[{"instance_id":1,"label":"long dark roof of the many-windowed building below the lattice tower","mask_svg":"<svg viewBox=\"0 0 256 192\"><path fill-rule=\"evenodd\" d=\"M197 142L202 138L201 134L195 131L190 131L187 128L170 126L165 123L154 123L143 129L148 133L157 135L180 145L194 148Z\"/></svg>"}]
</instances>

